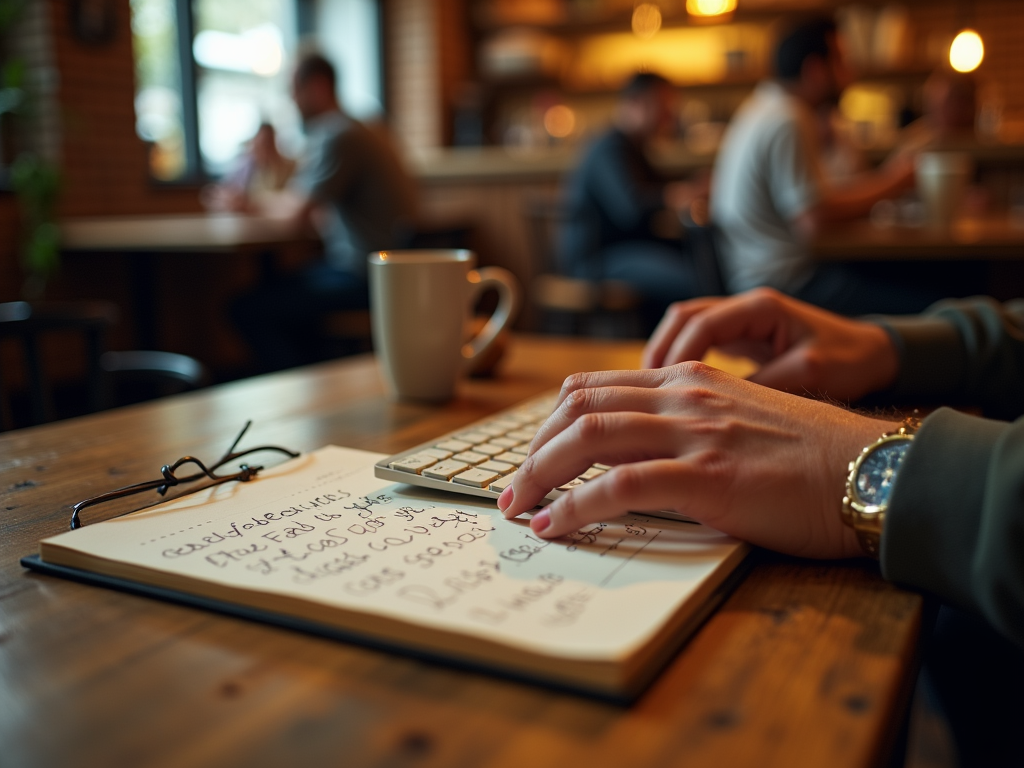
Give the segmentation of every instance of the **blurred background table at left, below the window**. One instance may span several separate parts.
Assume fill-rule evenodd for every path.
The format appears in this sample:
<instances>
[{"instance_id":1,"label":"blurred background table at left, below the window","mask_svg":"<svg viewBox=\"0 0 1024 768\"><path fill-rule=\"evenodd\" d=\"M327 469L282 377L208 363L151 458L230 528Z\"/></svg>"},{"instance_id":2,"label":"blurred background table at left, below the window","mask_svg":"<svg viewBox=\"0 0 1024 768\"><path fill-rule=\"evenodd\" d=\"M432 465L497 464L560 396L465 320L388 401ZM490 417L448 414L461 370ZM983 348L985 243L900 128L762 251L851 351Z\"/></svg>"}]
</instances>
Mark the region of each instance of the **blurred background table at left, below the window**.
<instances>
[{"instance_id":1,"label":"blurred background table at left, below the window","mask_svg":"<svg viewBox=\"0 0 1024 768\"><path fill-rule=\"evenodd\" d=\"M142 349L165 348L160 333L162 292L155 264L159 255L251 252L264 258L267 251L314 242L311 229L297 229L287 219L236 213L94 216L60 222L60 249L66 253L131 257L135 343ZM203 275L195 275L191 285L194 292L202 292Z\"/></svg>"}]
</instances>

